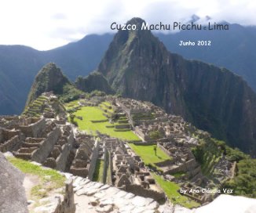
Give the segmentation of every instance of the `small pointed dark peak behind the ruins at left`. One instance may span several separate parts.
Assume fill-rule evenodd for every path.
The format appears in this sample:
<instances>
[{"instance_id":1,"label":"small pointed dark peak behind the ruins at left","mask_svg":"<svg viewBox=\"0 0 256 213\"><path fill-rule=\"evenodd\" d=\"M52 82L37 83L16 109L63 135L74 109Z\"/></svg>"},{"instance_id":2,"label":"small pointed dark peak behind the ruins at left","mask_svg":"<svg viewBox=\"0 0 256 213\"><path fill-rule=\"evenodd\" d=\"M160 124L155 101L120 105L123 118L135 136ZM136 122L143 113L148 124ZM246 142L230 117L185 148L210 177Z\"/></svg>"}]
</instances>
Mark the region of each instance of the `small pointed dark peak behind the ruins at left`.
<instances>
[{"instance_id":1,"label":"small pointed dark peak behind the ruins at left","mask_svg":"<svg viewBox=\"0 0 256 213\"><path fill-rule=\"evenodd\" d=\"M55 63L48 63L38 72L35 81L27 96L28 106L31 102L42 95L43 92L53 92L61 96L61 99L75 99L79 97L81 91L75 88ZM76 97L73 97L76 96Z\"/></svg>"}]
</instances>

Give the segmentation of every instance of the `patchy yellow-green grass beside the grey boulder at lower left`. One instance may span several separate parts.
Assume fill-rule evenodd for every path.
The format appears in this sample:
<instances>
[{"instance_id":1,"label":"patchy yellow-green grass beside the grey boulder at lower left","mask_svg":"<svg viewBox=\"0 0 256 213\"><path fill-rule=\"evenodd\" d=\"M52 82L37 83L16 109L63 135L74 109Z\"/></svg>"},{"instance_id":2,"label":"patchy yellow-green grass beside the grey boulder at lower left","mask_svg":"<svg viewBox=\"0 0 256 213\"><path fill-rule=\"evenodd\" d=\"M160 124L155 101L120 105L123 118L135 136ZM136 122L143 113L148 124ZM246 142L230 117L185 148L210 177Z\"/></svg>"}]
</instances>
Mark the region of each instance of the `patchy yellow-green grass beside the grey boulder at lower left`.
<instances>
[{"instance_id":1,"label":"patchy yellow-green grass beside the grey boulder at lower left","mask_svg":"<svg viewBox=\"0 0 256 213\"><path fill-rule=\"evenodd\" d=\"M31 199L46 197L51 190L64 186L65 177L53 169L44 169L38 165L16 157L8 157L8 161L25 174L38 176L40 183L31 189Z\"/></svg>"}]
</instances>

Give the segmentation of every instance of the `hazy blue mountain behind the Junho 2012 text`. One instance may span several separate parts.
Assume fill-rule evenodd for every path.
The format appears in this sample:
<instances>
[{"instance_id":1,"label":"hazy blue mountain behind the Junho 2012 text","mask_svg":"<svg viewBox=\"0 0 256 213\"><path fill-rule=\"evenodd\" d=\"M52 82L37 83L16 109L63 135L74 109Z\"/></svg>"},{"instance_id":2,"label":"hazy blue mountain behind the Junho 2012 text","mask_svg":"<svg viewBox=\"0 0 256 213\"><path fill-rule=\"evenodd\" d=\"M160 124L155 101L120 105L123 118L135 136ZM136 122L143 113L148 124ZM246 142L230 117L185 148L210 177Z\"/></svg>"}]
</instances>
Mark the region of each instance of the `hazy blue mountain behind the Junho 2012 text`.
<instances>
[{"instance_id":1,"label":"hazy blue mountain behind the Junho 2012 text","mask_svg":"<svg viewBox=\"0 0 256 213\"><path fill-rule=\"evenodd\" d=\"M256 27L229 24L229 31L181 31L157 34L170 52L202 60L239 74L256 91ZM210 46L181 46L180 41L211 41Z\"/></svg>"}]
</instances>

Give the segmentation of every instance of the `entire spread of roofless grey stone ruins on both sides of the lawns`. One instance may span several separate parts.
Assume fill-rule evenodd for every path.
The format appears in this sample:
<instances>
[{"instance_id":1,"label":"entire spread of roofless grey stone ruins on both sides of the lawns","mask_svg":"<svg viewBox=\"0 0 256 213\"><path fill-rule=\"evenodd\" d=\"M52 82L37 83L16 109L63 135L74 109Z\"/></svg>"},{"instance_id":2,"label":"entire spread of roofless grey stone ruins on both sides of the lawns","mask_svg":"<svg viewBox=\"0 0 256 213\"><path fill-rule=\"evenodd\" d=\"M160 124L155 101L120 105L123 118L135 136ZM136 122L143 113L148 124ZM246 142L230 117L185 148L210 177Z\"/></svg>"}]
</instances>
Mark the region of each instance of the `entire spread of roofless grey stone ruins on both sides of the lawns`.
<instances>
[{"instance_id":1,"label":"entire spread of roofless grey stone ruins on both sides of the lawns","mask_svg":"<svg viewBox=\"0 0 256 213\"><path fill-rule=\"evenodd\" d=\"M102 99L94 101L98 104ZM128 117L134 132L144 139L142 143L157 144L171 157L171 160L156 164L166 180L179 182L188 189L207 184L191 151L199 144L199 140L192 136L196 128L181 117L166 114L152 103L132 99L112 101L116 104L115 112ZM126 142L100 132L97 134L100 140L83 132L74 132L74 127L66 121L65 115L57 119L0 117L0 150L11 151L16 157L89 179L93 179L97 159L102 159L104 182L142 197L165 199L163 191L150 175L151 168L144 165ZM160 139L150 137L150 132L154 131L160 132ZM226 159L222 160L215 167L228 174L230 165ZM182 173L182 176L175 178L177 173ZM199 203L208 201L201 194L188 194L188 197Z\"/></svg>"}]
</instances>

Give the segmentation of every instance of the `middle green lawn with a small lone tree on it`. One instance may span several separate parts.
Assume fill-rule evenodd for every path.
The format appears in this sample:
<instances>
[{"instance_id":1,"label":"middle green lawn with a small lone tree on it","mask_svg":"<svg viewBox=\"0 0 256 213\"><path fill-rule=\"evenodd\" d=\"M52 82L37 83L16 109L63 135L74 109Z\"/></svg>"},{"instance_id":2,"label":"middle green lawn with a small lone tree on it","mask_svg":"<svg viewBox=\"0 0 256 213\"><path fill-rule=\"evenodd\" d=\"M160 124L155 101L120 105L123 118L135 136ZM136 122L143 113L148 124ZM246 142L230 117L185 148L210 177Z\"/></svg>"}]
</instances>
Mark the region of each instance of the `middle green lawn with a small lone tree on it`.
<instances>
[{"instance_id":1,"label":"middle green lawn with a small lone tree on it","mask_svg":"<svg viewBox=\"0 0 256 213\"><path fill-rule=\"evenodd\" d=\"M159 147L156 148L156 155L154 147L155 145L141 146L130 143L130 148L137 153L137 155L141 156L142 160L145 164L155 164L162 161L166 161L171 159L166 153L163 152Z\"/></svg>"}]
</instances>

